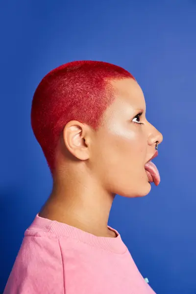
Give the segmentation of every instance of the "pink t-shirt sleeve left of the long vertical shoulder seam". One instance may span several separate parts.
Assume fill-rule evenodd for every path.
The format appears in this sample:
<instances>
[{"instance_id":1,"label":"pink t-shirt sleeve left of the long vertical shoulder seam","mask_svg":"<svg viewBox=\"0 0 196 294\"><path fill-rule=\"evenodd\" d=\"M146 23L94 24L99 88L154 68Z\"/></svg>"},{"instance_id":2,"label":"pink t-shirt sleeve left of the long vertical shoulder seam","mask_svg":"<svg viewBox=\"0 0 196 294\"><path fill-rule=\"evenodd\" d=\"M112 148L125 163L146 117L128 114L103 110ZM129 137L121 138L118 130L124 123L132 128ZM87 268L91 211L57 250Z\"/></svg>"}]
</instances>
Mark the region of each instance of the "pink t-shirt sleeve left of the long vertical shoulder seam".
<instances>
[{"instance_id":1,"label":"pink t-shirt sleeve left of the long vertical shoulder seam","mask_svg":"<svg viewBox=\"0 0 196 294\"><path fill-rule=\"evenodd\" d=\"M65 294L58 239L26 236L3 294Z\"/></svg>"}]
</instances>

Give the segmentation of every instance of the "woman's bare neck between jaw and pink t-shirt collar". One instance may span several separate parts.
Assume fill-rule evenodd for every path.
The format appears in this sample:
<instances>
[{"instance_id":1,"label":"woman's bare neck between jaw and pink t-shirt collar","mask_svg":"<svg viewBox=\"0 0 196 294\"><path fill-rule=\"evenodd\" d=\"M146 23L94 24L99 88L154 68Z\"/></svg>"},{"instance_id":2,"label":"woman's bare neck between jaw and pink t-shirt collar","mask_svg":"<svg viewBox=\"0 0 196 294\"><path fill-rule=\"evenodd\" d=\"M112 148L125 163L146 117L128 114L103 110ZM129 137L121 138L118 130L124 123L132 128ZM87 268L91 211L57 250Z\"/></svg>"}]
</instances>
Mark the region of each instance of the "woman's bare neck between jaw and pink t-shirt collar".
<instances>
[{"instance_id":1,"label":"woman's bare neck between jaw and pink t-shirt collar","mask_svg":"<svg viewBox=\"0 0 196 294\"><path fill-rule=\"evenodd\" d=\"M95 181L58 182L39 216L67 223L96 236L115 237L107 227L114 197L100 189Z\"/></svg>"}]
</instances>

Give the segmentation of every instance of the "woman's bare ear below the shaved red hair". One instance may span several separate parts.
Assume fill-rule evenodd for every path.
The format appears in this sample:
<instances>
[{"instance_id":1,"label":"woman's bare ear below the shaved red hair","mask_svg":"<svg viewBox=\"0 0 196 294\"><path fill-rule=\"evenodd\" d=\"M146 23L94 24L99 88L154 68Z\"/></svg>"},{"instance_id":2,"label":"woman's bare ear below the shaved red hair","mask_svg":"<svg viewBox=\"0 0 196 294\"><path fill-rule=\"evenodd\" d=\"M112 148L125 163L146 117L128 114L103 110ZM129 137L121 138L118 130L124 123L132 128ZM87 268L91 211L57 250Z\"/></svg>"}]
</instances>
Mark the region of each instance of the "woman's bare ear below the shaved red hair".
<instances>
[{"instance_id":1,"label":"woman's bare ear below the shaved red hair","mask_svg":"<svg viewBox=\"0 0 196 294\"><path fill-rule=\"evenodd\" d=\"M78 121L67 123L63 130L63 141L74 157L89 159L90 128L86 124Z\"/></svg>"}]
</instances>

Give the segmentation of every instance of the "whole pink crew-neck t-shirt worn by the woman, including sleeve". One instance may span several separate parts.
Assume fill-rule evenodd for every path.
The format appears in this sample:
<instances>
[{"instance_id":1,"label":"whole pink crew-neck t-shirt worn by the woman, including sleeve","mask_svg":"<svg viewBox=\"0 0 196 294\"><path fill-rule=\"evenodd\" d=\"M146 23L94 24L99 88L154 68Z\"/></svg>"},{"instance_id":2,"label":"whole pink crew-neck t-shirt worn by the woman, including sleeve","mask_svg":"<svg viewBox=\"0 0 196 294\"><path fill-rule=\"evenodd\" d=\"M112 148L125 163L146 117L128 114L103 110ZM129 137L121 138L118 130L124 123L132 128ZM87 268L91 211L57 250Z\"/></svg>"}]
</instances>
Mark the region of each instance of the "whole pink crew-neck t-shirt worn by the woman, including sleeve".
<instances>
[{"instance_id":1,"label":"whole pink crew-neck t-shirt worn by the woman, including sleeve","mask_svg":"<svg viewBox=\"0 0 196 294\"><path fill-rule=\"evenodd\" d=\"M36 216L4 294L155 294L120 234L97 237Z\"/></svg>"}]
</instances>

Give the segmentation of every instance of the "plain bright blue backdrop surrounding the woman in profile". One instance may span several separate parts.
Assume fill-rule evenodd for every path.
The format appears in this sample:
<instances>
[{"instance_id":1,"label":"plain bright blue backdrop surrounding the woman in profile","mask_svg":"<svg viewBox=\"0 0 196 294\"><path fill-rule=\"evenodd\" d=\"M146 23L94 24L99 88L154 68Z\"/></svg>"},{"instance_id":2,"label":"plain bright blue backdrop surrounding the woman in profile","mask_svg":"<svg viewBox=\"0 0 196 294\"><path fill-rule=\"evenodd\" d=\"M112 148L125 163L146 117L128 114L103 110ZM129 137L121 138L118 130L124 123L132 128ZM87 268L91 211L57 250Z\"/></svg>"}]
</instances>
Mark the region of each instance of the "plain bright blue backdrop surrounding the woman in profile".
<instances>
[{"instance_id":1,"label":"plain bright blue backdrop surrounding the woman in profile","mask_svg":"<svg viewBox=\"0 0 196 294\"><path fill-rule=\"evenodd\" d=\"M109 225L157 294L195 294L196 1L0 1L0 30L0 293L52 187L30 126L33 93L51 69L92 59L136 77L164 136L161 184L117 196Z\"/></svg>"}]
</instances>

